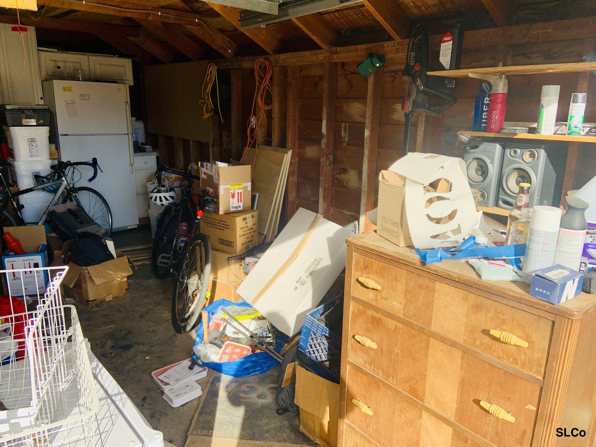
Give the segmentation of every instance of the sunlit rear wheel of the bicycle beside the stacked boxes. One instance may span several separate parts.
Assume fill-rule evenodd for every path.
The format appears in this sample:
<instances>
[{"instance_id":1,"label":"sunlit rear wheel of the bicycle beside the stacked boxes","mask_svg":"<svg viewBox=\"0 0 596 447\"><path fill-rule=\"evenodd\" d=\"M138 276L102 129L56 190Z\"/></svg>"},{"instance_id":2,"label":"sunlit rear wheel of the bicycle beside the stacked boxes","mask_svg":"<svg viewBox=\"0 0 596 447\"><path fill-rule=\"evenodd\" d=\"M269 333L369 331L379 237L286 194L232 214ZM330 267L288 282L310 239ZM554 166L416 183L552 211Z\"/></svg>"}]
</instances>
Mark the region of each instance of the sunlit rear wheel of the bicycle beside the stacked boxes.
<instances>
[{"instance_id":1,"label":"sunlit rear wheel of the bicycle beside the stacked boxes","mask_svg":"<svg viewBox=\"0 0 596 447\"><path fill-rule=\"evenodd\" d=\"M172 291L172 325L176 332L184 334L198 324L210 272L209 239L203 233L195 234L184 246Z\"/></svg>"}]
</instances>

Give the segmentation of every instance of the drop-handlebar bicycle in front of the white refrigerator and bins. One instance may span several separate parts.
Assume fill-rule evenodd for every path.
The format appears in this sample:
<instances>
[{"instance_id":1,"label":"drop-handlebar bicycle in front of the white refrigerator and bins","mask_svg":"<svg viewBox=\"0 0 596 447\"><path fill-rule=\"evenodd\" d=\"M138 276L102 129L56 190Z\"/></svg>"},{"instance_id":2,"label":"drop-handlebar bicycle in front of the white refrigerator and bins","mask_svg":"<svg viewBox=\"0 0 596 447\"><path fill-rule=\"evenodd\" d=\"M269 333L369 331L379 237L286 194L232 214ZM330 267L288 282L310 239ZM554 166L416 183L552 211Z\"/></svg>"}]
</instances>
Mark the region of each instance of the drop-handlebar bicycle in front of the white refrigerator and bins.
<instances>
[{"instance_id":1,"label":"drop-handlebar bicycle in front of the white refrigerator and bins","mask_svg":"<svg viewBox=\"0 0 596 447\"><path fill-rule=\"evenodd\" d=\"M4 166L8 165L8 163L5 162L1 163ZM17 203L18 197L32 193L33 191L44 190L49 193L54 193L54 197L52 197L48 206L44 210L44 213L42 213L38 225L44 224L49 209L52 206L67 202L75 202L85 210L89 217L104 228L105 235L110 235L112 229L110 206L103 195L94 189L88 187L75 187L75 183L80 179L75 181L75 175L76 172L78 172L76 168L77 166L90 166L93 168L93 175L87 180L88 182L95 180L97 177L97 170L100 169L97 164L97 159L95 158L92 159L91 162L58 162L51 166L53 171L48 176L33 175L33 179L36 183L34 187L26 188L15 193L11 193L10 185L0 170L0 225L2 228L4 228L4 226L25 225L26 222L21 214L21 210L24 206ZM69 176L70 181L68 179Z\"/></svg>"}]
</instances>

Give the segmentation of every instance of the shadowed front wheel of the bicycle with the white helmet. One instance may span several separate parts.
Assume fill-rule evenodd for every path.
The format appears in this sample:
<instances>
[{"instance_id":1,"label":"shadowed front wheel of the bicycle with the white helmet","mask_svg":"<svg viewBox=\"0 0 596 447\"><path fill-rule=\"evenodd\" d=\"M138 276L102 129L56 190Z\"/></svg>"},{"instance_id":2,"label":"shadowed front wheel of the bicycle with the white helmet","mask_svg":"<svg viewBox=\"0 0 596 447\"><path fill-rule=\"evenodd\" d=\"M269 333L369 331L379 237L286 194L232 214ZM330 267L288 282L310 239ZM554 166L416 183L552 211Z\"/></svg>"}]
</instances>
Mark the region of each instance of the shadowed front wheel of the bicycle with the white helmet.
<instances>
[{"instance_id":1,"label":"shadowed front wheel of the bicycle with the white helmet","mask_svg":"<svg viewBox=\"0 0 596 447\"><path fill-rule=\"evenodd\" d=\"M172 266L176 231L178 231L177 205L168 205L163 209L157 221L155 238L153 239L153 255L151 268L158 280L163 280Z\"/></svg>"}]
</instances>

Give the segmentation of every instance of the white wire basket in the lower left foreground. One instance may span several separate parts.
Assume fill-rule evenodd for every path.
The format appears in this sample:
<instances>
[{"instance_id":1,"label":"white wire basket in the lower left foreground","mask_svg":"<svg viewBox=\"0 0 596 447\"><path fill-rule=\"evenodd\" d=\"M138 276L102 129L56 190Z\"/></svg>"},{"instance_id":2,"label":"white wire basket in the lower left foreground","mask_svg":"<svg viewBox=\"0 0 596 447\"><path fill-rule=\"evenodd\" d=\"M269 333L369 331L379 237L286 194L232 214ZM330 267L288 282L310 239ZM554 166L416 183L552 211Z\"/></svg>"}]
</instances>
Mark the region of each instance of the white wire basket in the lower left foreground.
<instances>
[{"instance_id":1,"label":"white wire basket in the lower left foreground","mask_svg":"<svg viewBox=\"0 0 596 447\"><path fill-rule=\"evenodd\" d=\"M67 269L0 270L0 447L94 445L98 397L76 309L62 304Z\"/></svg>"}]
</instances>

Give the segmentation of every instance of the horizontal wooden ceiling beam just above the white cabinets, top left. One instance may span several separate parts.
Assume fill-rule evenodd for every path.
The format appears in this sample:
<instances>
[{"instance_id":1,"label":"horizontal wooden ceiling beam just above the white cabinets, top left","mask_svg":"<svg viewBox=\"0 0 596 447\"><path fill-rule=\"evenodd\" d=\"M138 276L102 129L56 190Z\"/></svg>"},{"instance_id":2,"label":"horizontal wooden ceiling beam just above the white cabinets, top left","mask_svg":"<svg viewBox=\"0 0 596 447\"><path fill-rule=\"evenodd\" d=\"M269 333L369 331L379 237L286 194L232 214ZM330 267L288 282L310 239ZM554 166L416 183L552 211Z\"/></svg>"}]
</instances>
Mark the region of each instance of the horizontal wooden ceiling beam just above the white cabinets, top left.
<instances>
[{"instance_id":1,"label":"horizontal wooden ceiling beam just above the white cabinets, top left","mask_svg":"<svg viewBox=\"0 0 596 447\"><path fill-rule=\"evenodd\" d=\"M17 24L16 15L0 15L0 23ZM64 18L40 17L33 18L21 15L21 24L48 29L61 29L64 31L79 31L85 33L105 32L118 36L139 38L139 28L132 26L112 25L109 23L95 23L91 21L66 20Z\"/></svg>"}]
</instances>

